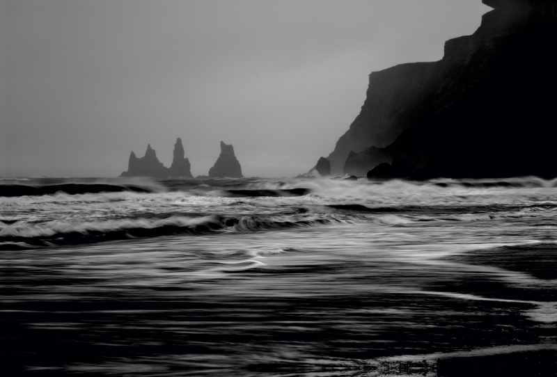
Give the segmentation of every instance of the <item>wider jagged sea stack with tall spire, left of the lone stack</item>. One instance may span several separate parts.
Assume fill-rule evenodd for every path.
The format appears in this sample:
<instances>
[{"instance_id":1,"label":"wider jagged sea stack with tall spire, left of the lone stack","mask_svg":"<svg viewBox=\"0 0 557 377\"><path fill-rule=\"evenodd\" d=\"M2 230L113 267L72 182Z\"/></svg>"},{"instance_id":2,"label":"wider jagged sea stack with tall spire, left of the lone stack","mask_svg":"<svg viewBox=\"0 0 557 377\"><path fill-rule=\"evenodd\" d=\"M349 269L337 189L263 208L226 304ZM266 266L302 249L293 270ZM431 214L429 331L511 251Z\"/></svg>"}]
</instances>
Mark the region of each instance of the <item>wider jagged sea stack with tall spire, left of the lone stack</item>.
<instances>
[{"instance_id":1,"label":"wider jagged sea stack with tall spire, left of the lone stack","mask_svg":"<svg viewBox=\"0 0 557 377\"><path fill-rule=\"evenodd\" d=\"M182 139L178 138L174 145L174 159L171 168L166 168L162 162L157 159L157 153L149 144L147 145L145 156L141 157L141 159L137 158L134 152L130 154L127 171L122 173L120 177L191 178L189 168L189 160L184 158Z\"/></svg>"}]
</instances>

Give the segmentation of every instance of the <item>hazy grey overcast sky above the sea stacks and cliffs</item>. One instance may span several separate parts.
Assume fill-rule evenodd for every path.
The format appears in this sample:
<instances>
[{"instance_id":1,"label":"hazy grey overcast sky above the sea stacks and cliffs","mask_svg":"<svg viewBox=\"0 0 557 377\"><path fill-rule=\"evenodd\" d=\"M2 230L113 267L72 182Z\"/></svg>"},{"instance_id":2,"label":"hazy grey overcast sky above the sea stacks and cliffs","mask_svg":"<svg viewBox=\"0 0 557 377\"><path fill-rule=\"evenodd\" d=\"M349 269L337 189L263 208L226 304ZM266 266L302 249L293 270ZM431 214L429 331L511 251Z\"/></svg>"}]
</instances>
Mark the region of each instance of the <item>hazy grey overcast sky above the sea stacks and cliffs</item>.
<instances>
[{"instance_id":1,"label":"hazy grey overcast sky above the sea stacks and cliffs","mask_svg":"<svg viewBox=\"0 0 557 377\"><path fill-rule=\"evenodd\" d=\"M249 177L334 150L368 75L438 61L481 0L0 0L0 177L115 177L182 138Z\"/></svg>"}]
</instances>

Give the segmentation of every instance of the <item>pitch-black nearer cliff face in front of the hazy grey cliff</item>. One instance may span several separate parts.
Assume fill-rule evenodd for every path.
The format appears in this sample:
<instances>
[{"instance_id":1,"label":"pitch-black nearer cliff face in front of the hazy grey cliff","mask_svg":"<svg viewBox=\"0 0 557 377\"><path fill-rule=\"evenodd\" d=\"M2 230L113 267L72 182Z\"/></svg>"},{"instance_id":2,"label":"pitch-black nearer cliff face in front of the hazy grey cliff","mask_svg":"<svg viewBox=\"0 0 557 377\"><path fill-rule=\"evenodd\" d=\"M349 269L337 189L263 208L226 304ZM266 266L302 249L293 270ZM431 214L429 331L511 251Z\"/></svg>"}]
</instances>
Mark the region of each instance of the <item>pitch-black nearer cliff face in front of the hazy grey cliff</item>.
<instances>
[{"instance_id":1,"label":"pitch-black nearer cliff face in front of the hazy grey cliff","mask_svg":"<svg viewBox=\"0 0 557 377\"><path fill-rule=\"evenodd\" d=\"M485 3L480 29L448 42L435 112L385 150L430 177L556 177L557 2Z\"/></svg>"}]
</instances>

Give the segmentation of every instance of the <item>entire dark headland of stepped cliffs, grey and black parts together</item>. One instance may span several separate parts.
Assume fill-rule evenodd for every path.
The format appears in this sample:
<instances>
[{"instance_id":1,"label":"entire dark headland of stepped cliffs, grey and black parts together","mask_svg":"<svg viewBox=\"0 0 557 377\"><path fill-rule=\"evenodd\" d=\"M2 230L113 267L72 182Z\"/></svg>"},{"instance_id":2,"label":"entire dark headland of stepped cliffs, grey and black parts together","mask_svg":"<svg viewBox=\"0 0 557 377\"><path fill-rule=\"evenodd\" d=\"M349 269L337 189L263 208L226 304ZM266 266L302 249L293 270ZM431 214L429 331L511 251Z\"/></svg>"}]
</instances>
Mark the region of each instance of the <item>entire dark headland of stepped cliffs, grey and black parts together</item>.
<instances>
[{"instance_id":1,"label":"entire dark headland of stepped cliffs, grey and black parts together","mask_svg":"<svg viewBox=\"0 0 557 377\"><path fill-rule=\"evenodd\" d=\"M557 177L557 1L483 3L494 10L473 35L448 40L441 61L370 74L331 174L398 160L378 175Z\"/></svg>"}]
</instances>

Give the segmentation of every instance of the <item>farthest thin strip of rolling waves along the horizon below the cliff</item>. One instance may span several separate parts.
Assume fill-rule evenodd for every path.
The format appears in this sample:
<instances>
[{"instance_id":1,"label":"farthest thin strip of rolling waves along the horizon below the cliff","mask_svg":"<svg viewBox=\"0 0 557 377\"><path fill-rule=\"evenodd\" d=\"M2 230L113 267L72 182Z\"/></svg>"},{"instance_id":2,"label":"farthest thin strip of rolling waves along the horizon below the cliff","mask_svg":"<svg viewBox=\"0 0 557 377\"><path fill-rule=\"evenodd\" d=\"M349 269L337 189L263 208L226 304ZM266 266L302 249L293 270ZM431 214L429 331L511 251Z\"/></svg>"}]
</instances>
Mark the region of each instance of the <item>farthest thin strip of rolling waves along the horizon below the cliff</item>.
<instances>
[{"instance_id":1,"label":"farthest thin strip of rolling waves along the horizon below the cliff","mask_svg":"<svg viewBox=\"0 0 557 377\"><path fill-rule=\"evenodd\" d=\"M114 182L85 181L68 182L68 179L8 179L0 184L0 197L27 195L70 195L85 193L159 193L177 191L206 195L214 191L230 198L289 197L333 195L340 197L393 193L443 193L450 190L470 189L555 189L557 179L546 180L538 177L515 177L508 179L432 179L425 182L411 182L393 179L387 182L347 181L339 179L121 179Z\"/></svg>"}]
</instances>

